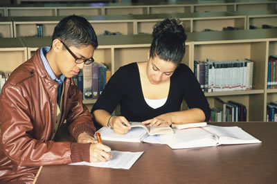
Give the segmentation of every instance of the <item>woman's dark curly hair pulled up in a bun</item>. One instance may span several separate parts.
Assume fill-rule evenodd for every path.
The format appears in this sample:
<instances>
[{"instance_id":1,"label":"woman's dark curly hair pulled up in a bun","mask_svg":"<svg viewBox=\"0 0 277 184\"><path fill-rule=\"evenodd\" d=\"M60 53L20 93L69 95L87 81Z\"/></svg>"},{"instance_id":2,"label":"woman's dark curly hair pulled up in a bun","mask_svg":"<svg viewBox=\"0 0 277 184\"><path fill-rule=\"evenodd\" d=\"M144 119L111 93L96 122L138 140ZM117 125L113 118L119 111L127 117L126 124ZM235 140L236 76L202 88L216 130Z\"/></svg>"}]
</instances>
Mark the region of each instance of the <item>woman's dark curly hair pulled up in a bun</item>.
<instances>
[{"instance_id":1,"label":"woman's dark curly hair pulled up in a bun","mask_svg":"<svg viewBox=\"0 0 277 184\"><path fill-rule=\"evenodd\" d=\"M179 19L164 19L153 27L150 57L179 64L186 53L186 33Z\"/></svg>"}]
</instances>

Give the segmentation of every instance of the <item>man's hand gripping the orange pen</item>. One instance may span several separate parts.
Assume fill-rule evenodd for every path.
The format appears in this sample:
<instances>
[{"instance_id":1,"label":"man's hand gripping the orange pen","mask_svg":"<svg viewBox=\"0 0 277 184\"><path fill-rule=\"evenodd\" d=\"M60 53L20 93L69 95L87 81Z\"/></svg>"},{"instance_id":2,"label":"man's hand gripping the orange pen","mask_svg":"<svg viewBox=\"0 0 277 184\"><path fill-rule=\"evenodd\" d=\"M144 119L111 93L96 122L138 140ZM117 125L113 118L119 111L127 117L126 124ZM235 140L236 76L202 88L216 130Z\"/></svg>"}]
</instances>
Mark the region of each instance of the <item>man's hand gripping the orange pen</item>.
<instances>
[{"instance_id":1,"label":"man's hand gripping the orange pen","mask_svg":"<svg viewBox=\"0 0 277 184\"><path fill-rule=\"evenodd\" d=\"M111 160L111 148L102 143L91 144L89 156L92 163Z\"/></svg>"}]
</instances>

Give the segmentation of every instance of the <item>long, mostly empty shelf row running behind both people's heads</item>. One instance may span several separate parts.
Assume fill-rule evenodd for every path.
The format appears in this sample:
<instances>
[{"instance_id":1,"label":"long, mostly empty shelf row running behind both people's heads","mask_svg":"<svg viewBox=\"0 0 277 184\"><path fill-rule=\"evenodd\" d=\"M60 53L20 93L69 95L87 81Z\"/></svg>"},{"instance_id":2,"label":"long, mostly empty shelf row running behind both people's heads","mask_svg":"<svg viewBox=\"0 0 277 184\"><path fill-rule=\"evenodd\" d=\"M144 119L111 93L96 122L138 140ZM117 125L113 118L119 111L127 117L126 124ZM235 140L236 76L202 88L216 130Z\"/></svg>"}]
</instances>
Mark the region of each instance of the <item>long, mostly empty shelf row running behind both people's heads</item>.
<instances>
[{"instance_id":1,"label":"long, mostly empty shelf row running behind both people's heads","mask_svg":"<svg viewBox=\"0 0 277 184\"><path fill-rule=\"evenodd\" d=\"M238 29L247 28L246 15L233 15L233 12L194 12L155 15L96 15L84 16L96 30L97 35L105 30L120 35L150 34L157 21L166 17L179 18L186 24L187 32L200 32L205 28L222 30L231 26ZM42 24L44 36L51 36L62 16L54 17L11 17L14 37L35 37L37 24ZM1 19L0 19L1 20Z\"/></svg>"}]
</instances>

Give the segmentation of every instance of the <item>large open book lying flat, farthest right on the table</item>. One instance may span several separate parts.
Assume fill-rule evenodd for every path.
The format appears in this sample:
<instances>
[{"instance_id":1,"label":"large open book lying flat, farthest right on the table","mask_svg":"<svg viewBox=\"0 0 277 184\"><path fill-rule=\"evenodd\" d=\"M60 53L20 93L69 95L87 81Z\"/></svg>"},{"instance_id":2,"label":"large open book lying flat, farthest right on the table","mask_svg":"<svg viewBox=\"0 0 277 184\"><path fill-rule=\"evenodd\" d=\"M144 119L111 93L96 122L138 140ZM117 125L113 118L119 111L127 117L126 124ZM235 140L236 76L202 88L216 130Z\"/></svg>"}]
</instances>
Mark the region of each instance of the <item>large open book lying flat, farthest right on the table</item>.
<instances>
[{"instance_id":1,"label":"large open book lying flat, farthest right on the table","mask_svg":"<svg viewBox=\"0 0 277 184\"><path fill-rule=\"evenodd\" d=\"M148 136L143 142L167 144L172 149L211 147L217 145L251 144L261 142L240 127L207 125L190 129L175 129L174 135Z\"/></svg>"}]
</instances>

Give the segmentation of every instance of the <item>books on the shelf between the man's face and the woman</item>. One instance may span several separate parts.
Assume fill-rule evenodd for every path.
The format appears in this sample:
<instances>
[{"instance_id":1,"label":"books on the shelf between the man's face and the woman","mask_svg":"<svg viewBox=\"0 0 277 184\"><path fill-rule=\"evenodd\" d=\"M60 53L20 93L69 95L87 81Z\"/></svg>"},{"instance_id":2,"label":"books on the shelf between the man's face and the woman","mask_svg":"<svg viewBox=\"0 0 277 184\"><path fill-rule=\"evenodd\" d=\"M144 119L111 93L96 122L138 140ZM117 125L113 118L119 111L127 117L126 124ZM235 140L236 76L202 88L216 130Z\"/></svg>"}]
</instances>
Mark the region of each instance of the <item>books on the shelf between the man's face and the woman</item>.
<instances>
[{"instance_id":1,"label":"books on the shelf between the man's face and the woman","mask_svg":"<svg viewBox=\"0 0 277 184\"><path fill-rule=\"evenodd\" d=\"M105 64L93 62L84 65L73 80L82 91L83 99L90 100L99 97L110 77L111 71Z\"/></svg>"}]
</instances>

